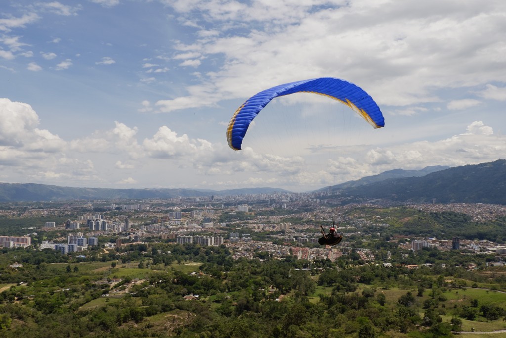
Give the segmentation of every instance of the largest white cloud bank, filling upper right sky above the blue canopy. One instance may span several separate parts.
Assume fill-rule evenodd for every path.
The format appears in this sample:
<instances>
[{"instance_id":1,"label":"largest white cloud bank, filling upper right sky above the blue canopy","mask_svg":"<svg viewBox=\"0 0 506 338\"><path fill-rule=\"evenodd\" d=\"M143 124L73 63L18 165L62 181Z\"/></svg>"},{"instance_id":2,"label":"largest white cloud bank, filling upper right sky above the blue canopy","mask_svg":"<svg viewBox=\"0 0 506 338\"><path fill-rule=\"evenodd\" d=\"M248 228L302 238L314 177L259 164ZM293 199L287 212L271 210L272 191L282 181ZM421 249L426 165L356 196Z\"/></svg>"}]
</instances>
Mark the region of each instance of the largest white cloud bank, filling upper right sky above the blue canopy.
<instances>
[{"instance_id":1,"label":"largest white cloud bank, filling upper right sky above the blue canopy","mask_svg":"<svg viewBox=\"0 0 506 338\"><path fill-rule=\"evenodd\" d=\"M506 78L506 68L497 66L506 51L499 33L504 6L497 2L483 6L473 1L466 7L435 0L425 6L366 6L359 1L325 2L324 7L319 1L165 4L180 13L181 22L197 17L213 24L213 31L222 31L176 45L181 54L223 60L201 79L202 89L215 84L215 100L334 76L363 86L380 105L420 106L441 101L441 88L469 88ZM202 11L205 17L198 15ZM199 59L185 60L181 65L197 66ZM216 103L201 100L198 94L203 92L191 96L202 105ZM414 111L399 109L399 114Z\"/></svg>"}]
</instances>

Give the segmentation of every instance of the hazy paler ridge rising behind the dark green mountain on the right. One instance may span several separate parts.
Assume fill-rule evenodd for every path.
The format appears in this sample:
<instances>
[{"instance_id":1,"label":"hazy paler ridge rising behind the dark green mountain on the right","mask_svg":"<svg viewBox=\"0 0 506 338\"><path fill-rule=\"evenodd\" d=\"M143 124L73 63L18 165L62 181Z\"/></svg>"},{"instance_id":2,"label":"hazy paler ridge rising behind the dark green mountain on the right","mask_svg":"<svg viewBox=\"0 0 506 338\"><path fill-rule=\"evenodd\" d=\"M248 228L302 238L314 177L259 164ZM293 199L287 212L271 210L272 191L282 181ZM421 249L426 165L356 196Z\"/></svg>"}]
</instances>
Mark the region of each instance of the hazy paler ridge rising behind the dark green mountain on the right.
<instances>
[{"instance_id":1,"label":"hazy paler ridge rising behind the dark green mountain on the right","mask_svg":"<svg viewBox=\"0 0 506 338\"><path fill-rule=\"evenodd\" d=\"M341 184L336 184L332 186L327 186L322 189L317 190L317 192L323 192L323 191L333 191L338 189L347 189L350 187L356 187L360 185L366 185L371 184L375 182L381 182L389 178L401 178L401 177L419 177L419 176L425 176L427 174L448 169L450 167L448 166L428 166L424 169L420 170L404 170L404 169L393 169L384 171L381 174L372 175L372 176L366 176L362 177L360 179L354 180L354 181L347 181Z\"/></svg>"}]
</instances>

